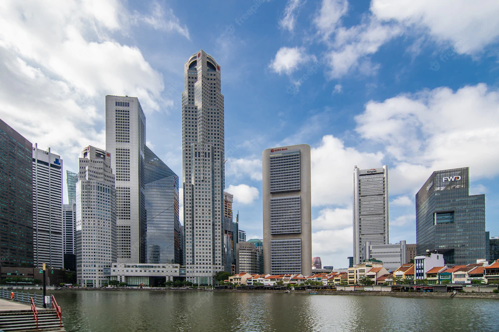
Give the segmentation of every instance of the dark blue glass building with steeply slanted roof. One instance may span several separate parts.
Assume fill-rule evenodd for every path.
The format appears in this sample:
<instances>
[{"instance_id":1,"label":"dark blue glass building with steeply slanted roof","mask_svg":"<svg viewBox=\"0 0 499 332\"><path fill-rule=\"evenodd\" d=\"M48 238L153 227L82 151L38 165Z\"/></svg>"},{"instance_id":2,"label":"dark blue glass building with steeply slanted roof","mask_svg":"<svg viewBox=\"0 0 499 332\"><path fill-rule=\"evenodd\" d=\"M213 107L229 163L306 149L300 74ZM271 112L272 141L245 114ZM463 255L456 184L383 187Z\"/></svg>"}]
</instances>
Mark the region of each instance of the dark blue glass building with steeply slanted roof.
<instances>
[{"instance_id":1,"label":"dark blue glass building with steeply slanted roof","mask_svg":"<svg viewBox=\"0 0 499 332\"><path fill-rule=\"evenodd\" d=\"M147 146L144 160L146 262L183 265L184 238L178 215L178 175Z\"/></svg>"}]
</instances>

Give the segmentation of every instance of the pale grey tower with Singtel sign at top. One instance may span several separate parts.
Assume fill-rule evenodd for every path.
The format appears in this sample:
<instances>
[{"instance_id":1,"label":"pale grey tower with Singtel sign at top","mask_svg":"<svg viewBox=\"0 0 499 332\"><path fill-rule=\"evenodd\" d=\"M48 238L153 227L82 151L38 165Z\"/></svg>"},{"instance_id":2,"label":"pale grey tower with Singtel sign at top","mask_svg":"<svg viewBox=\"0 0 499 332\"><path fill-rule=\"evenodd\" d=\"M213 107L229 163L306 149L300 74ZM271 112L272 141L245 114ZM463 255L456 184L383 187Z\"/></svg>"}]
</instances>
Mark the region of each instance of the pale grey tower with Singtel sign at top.
<instances>
[{"instance_id":1,"label":"pale grey tower with Singtel sign at top","mask_svg":"<svg viewBox=\"0 0 499 332\"><path fill-rule=\"evenodd\" d=\"M364 260L364 246L388 244L388 166L354 168L354 265Z\"/></svg>"}]
</instances>

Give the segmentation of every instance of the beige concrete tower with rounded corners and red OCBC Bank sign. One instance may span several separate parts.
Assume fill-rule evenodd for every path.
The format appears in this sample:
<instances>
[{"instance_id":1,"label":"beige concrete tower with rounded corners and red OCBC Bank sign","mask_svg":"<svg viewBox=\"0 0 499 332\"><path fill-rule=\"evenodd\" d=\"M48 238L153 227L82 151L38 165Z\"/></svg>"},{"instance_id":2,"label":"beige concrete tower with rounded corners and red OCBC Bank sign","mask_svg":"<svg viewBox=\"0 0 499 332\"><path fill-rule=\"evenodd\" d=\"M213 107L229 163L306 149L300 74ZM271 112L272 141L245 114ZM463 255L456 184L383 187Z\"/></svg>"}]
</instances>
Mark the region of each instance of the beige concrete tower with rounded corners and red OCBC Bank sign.
<instances>
[{"instance_id":1,"label":"beige concrete tower with rounded corners and red OCBC Bank sign","mask_svg":"<svg viewBox=\"0 0 499 332\"><path fill-rule=\"evenodd\" d=\"M263 152L264 272L312 273L310 145Z\"/></svg>"}]
</instances>

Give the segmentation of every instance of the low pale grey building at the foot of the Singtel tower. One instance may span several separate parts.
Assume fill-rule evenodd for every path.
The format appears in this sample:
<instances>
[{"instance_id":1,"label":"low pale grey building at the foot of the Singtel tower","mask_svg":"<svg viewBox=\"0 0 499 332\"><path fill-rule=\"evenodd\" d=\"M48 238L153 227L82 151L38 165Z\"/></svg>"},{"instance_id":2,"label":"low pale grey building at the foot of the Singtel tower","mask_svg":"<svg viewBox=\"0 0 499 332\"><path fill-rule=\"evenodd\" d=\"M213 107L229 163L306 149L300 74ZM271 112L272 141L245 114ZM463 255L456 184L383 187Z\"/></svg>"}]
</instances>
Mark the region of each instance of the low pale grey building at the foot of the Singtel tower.
<instances>
[{"instance_id":1,"label":"low pale grey building at the foot of the Singtel tower","mask_svg":"<svg viewBox=\"0 0 499 332\"><path fill-rule=\"evenodd\" d=\"M406 242L395 244L371 244L367 241L364 246L365 259L378 259L383 262L387 270L396 270L406 261Z\"/></svg>"}]
</instances>

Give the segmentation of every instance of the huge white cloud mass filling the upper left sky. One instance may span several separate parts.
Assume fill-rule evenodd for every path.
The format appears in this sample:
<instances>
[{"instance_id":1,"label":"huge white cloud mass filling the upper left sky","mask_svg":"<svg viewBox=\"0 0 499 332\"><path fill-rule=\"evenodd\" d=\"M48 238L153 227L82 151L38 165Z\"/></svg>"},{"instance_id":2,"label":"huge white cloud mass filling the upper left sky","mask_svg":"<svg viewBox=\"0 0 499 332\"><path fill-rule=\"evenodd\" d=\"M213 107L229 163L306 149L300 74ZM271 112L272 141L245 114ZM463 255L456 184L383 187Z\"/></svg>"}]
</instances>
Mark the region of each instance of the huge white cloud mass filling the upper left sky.
<instances>
[{"instance_id":1,"label":"huge white cloud mass filling the upper left sky","mask_svg":"<svg viewBox=\"0 0 499 332\"><path fill-rule=\"evenodd\" d=\"M146 112L172 106L142 52L112 38L130 17L114 0L0 1L0 117L76 170L83 146L105 147L105 94L136 96Z\"/></svg>"}]
</instances>

